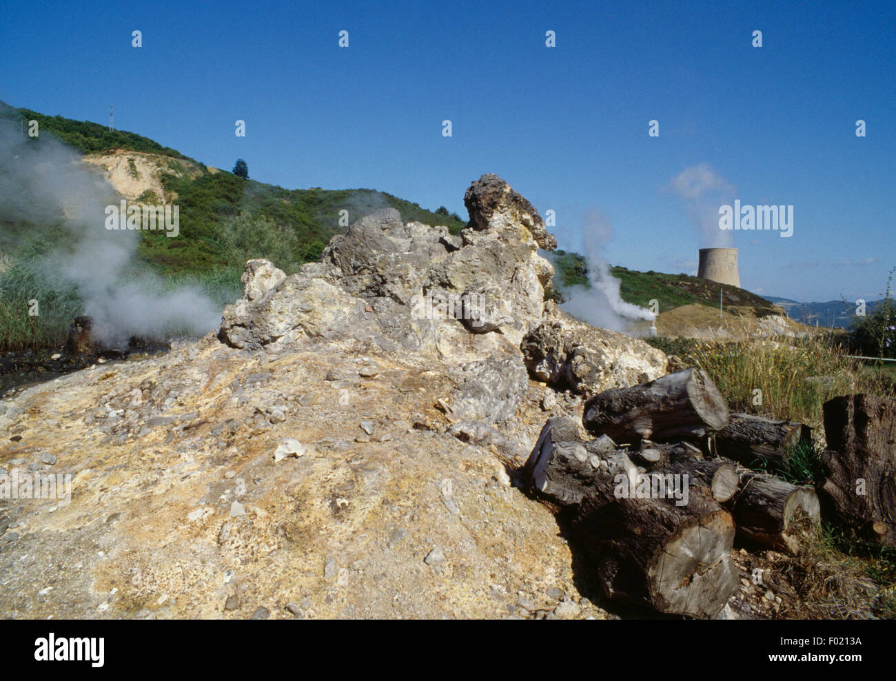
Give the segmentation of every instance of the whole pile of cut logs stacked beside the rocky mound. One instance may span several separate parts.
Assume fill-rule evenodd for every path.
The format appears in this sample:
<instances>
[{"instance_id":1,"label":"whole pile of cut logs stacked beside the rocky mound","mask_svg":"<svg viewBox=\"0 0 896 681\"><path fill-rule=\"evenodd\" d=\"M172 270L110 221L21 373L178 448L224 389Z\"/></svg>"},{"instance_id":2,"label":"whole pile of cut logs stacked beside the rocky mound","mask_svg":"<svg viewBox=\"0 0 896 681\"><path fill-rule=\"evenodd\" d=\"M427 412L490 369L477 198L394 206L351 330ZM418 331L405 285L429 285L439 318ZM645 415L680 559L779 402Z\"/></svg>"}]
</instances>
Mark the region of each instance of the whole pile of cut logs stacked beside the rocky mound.
<instances>
[{"instance_id":1,"label":"whole pile of cut logs stacked beside the rocky mound","mask_svg":"<svg viewBox=\"0 0 896 681\"><path fill-rule=\"evenodd\" d=\"M754 444L769 453L808 435L800 424L744 417L724 438L741 452L757 451L747 434L762 434ZM802 532L816 529L813 488L694 446L731 422L710 377L692 368L591 398L582 423L595 439L572 418L542 428L525 466L530 491L573 519L573 545L591 557L608 598L712 617L737 589L736 537L796 553Z\"/></svg>"}]
</instances>

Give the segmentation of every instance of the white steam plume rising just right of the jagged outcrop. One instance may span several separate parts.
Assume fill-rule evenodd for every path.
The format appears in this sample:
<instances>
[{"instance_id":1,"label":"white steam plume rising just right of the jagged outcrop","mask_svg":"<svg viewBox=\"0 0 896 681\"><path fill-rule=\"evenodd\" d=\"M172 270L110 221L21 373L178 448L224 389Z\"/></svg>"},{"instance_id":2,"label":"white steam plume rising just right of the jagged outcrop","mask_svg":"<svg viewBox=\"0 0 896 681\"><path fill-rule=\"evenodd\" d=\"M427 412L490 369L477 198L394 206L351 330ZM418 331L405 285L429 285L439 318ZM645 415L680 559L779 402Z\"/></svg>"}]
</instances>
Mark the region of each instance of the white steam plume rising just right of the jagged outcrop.
<instances>
[{"instance_id":1,"label":"white steam plume rising just right of the jagged outcrop","mask_svg":"<svg viewBox=\"0 0 896 681\"><path fill-rule=\"evenodd\" d=\"M592 326L611 331L630 332L633 321L652 321L655 315L650 310L626 303L619 296L621 282L610 274L609 263L601 255L613 237L613 228L607 219L599 211L590 209L582 235L591 286L590 289L583 286L562 289L567 300L561 307Z\"/></svg>"}]
</instances>

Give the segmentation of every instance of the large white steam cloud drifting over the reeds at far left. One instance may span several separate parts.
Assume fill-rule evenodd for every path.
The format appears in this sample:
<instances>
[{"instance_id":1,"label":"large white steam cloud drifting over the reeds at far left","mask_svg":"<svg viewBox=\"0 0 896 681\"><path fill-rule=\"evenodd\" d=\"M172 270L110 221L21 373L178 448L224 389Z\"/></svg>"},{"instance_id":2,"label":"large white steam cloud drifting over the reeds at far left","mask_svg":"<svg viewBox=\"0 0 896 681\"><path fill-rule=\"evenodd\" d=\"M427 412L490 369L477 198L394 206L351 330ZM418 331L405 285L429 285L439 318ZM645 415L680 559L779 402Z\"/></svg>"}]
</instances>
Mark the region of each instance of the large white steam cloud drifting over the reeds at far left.
<instances>
[{"instance_id":1,"label":"large white steam cloud drifting over the reeds at far left","mask_svg":"<svg viewBox=\"0 0 896 681\"><path fill-rule=\"evenodd\" d=\"M120 198L77 151L47 133L22 136L17 120L0 116L0 253L15 257L22 238L61 225L64 237L38 264L57 287L77 290L108 345L216 328L220 309L201 289L166 287L134 261L136 231L106 229L106 206Z\"/></svg>"}]
</instances>

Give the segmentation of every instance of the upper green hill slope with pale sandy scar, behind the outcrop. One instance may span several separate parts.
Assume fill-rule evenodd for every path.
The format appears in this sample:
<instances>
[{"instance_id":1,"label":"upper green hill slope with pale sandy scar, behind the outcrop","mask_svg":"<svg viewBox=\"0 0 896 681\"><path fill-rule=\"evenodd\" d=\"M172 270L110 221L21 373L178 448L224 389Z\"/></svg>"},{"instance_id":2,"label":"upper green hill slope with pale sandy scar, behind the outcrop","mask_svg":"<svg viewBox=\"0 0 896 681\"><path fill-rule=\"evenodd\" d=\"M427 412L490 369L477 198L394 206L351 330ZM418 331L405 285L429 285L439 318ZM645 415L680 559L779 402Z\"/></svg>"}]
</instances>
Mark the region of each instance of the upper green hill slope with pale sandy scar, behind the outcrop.
<instances>
[{"instance_id":1,"label":"upper green hill slope with pale sandy scar, behind the outcrop","mask_svg":"<svg viewBox=\"0 0 896 681\"><path fill-rule=\"evenodd\" d=\"M22 120L26 126L29 120L37 120L41 135L53 134L82 151L85 162L105 170L109 181L132 201L177 203L180 237L168 239L162 232L141 232L140 257L163 274L209 272L232 265L221 245L221 233L228 219L241 212L268 216L295 231L299 263L319 258L331 237L345 231L339 224L342 210L349 211L348 220L353 222L366 212L391 206L401 213L402 220L444 225L453 234L465 224L444 207L428 211L418 203L375 189L284 189L244 180L148 137L109 131L107 125L90 121L46 116L3 102L0 115ZM252 159L246 161L252 177Z\"/></svg>"}]
</instances>

